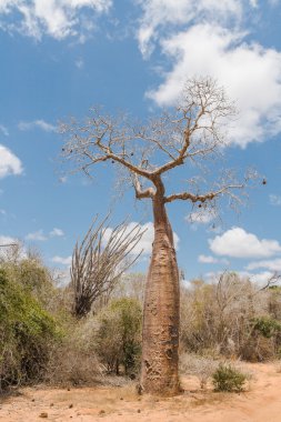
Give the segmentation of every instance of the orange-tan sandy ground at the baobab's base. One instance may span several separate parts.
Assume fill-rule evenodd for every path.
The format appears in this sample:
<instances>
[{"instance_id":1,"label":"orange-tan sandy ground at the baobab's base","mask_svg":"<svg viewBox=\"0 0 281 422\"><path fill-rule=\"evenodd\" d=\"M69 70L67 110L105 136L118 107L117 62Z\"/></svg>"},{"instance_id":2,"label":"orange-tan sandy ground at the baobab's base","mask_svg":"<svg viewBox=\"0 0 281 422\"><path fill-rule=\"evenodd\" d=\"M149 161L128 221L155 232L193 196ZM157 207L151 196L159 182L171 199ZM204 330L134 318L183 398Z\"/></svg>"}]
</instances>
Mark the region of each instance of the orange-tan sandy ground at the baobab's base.
<instances>
[{"instance_id":1,"label":"orange-tan sandy ground at the baobab's base","mask_svg":"<svg viewBox=\"0 0 281 422\"><path fill-rule=\"evenodd\" d=\"M249 391L214 393L199 389L197 379L182 379L184 393L172 399L138 396L134 385L122 388L20 390L2 399L0 421L113 422L281 422L281 373L274 364L249 365Z\"/></svg>"}]
</instances>

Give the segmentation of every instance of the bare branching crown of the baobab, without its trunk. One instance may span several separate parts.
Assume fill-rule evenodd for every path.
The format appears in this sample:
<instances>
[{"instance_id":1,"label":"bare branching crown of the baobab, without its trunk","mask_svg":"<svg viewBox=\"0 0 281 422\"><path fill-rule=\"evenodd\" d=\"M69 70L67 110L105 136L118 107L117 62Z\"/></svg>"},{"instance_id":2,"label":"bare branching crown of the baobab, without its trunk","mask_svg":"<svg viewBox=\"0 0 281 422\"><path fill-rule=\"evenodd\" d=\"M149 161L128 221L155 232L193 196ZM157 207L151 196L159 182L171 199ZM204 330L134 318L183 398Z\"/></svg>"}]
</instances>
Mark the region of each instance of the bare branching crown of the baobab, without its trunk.
<instances>
[{"instance_id":1,"label":"bare branching crown of the baobab, without its trunk","mask_svg":"<svg viewBox=\"0 0 281 422\"><path fill-rule=\"evenodd\" d=\"M76 120L62 124L62 132L69 134L62 149L63 157L77 163L76 171L90 177L94 165L100 163L123 169L119 180L129 182L137 199L152 199L155 193L164 197L164 189L159 189L162 175L178 167L187 165L189 171L197 165L201 174L207 172L208 158L214 162L221 159L225 145L223 128L235 113L223 89L210 78L189 80L178 107L145 123L131 122L126 114L113 118L101 113L99 108L91 111L91 117L82 125ZM192 183L192 179L193 174L188 183ZM240 183L233 179L225 181L209 177L204 182L201 189L205 193L191 187L167 195L164 202L189 200L203 203L220 194L231 195L232 189L242 189L247 184L245 179Z\"/></svg>"}]
</instances>

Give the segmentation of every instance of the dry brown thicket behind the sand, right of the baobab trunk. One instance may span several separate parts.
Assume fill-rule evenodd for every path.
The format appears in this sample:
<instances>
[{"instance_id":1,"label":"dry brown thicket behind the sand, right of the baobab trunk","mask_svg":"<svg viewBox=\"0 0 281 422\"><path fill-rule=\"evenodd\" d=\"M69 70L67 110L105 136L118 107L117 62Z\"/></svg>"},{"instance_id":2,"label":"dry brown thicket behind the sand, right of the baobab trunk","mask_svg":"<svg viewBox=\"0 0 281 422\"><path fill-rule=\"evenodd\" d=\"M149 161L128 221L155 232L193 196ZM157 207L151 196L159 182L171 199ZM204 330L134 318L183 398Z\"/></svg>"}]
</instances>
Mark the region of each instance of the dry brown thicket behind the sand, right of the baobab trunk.
<instances>
[{"instance_id":1,"label":"dry brown thicket behind the sand, right of the baobab trunk","mask_svg":"<svg viewBox=\"0 0 281 422\"><path fill-rule=\"evenodd\" d=\"M219 282L194 281L182 291L181 350L217 350L227 358L263 361L281 345L281 290L259 290L235 273Z\"/></svg>"}]
</instances>

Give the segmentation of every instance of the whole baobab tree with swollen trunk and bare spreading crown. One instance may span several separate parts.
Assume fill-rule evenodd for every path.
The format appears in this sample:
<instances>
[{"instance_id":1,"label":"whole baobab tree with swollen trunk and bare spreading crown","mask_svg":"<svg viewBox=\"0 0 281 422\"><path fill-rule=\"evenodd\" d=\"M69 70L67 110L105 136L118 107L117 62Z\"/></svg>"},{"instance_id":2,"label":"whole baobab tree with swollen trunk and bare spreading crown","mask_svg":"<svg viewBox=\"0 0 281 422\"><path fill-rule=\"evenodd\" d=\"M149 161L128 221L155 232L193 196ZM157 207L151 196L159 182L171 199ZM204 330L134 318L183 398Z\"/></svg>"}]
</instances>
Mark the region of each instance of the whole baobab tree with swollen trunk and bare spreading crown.
<instances>
[{"instance_id":1,"label":"whole baobab tree with swollen trunk and bare spreading crown","mask_svg":"<svg viewBox=\"0 0 281 422\"><path fill-rule=\"evenodd\" d=\"M172 111L163 111L144 124L131 122L126 114L111 117L94 108L83 123L73 119L61 128L67 137L64 159L71 165L74 162L76 170L91 175L98 164L122 169L136 198L152 204L154 240L144 294L140 380L144 392L173 395L180 389L179 270L167 204L189 201L205 209L219 198L233 199L233 192L244 187L244 180L238 183L231 172L217 179L210 173L208 187L198 174L190 177L195 163L200 172L204 163L213 169L208 158L221 157L225 145L222 129L233 114L224 90L212 79L201 78L185 83ZM167 192L170 183L165 174L184 164L184 189Z\"/></svg>"}]
</instances>

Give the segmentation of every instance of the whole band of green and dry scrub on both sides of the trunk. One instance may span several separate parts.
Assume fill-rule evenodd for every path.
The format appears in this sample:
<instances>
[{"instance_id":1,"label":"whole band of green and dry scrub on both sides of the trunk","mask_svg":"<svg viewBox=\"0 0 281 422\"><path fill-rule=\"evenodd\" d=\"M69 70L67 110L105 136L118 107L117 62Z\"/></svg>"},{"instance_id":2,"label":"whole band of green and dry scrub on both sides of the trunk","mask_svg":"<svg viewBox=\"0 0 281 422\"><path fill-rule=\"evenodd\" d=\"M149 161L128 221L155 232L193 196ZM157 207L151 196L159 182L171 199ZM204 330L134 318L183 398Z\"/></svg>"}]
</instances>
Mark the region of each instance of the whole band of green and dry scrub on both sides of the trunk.
<instances>
[{"instance_id":1,"label":"whole band of green and dry scrub on both sides of the trunk","mask_svg":"<svg viewBox=\"0 0 281 422\"><path fill-rule=\"evenodd\" d=\"M58 287L40 258L0 262L0 386L44 382L86 385L138 381L143 274L126 274L84 318L73 316L71 285ZM281 356L281 288L262 289L235 273L181 287L181 372L204 389L241 391L237 361Z\"/></svg>"}]
</instances>

